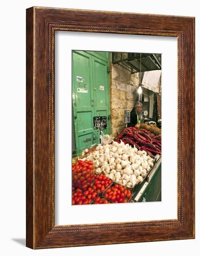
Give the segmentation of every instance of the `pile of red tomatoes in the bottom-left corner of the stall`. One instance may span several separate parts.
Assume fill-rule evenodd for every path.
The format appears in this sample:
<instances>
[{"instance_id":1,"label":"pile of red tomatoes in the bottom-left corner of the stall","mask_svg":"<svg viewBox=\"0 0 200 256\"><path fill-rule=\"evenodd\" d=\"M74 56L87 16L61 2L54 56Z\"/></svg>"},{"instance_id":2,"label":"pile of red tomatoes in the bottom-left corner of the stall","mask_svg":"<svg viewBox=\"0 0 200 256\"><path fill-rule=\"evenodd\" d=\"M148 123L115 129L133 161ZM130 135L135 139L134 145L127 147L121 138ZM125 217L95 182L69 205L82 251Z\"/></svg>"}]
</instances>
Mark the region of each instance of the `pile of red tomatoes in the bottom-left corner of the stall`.
<instances>
[{"instance_id":1,"label":"pile of red tomatoes in the bottom-left corner of the stall","mask_svg":"<svg viewBox=\"0 0 200 256\"><path fill-rule=\"evenodd\" d=\"M77 188L72 194L72 204L90 204L96 198L97 192L95 192L94 189L89 187L87 190L83 191Z\"/></svg>"}]
</instances>

